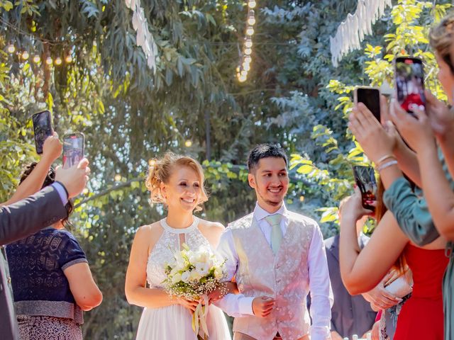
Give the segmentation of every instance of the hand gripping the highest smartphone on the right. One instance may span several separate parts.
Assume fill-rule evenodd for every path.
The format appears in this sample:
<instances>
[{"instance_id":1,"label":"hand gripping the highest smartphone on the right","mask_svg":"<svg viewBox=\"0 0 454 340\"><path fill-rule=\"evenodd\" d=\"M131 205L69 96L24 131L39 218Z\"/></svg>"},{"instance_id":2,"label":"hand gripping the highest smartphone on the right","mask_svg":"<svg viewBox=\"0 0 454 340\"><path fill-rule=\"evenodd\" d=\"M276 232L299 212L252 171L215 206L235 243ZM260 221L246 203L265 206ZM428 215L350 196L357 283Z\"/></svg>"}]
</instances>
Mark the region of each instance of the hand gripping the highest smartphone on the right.
<instances>
[{"instance_id":1,"label":"hand gripping the highest smartphone on the right","mask_svg":"<svg viewBox=\"0 0 454 340\"><path fill-rule=\"evenodd\" d=\"M411 107L411 110L416 118L394 101L391 106L391 118L407 144L419 153L428 145L435 145L435 136L426 113L416 105Z\"/></svg>"}]
</instances>

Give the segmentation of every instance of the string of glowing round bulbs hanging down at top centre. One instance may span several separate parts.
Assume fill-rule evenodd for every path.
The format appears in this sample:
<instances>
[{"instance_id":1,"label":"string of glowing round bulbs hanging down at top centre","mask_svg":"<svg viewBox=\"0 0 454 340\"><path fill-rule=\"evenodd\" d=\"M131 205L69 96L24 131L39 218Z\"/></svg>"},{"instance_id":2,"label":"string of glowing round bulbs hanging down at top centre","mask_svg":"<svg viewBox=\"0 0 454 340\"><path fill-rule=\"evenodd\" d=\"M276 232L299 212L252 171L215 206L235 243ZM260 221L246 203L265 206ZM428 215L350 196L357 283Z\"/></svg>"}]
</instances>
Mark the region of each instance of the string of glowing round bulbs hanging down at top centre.
<instances>
[{"instance_id":1,"label":"string of glowing round bulbs hanging down at top centre","mask_svg":"<svg viewBox=\"0 0 454 340\"><path fill-rule=\"evenodd\" d=\"M257 2L254 0L248 1L248 16L246 18L246 29L245 29L245 38L243 42L243 52L240 55L240 62L236 68L236 77L240 83L245 82L248 79L248 72L250 71L250 63L252 62L252 47L253 47L253 35L255 33L254 25L255 20L255 11L253 8L257 6Z\"/></svg>"}]
</instances>

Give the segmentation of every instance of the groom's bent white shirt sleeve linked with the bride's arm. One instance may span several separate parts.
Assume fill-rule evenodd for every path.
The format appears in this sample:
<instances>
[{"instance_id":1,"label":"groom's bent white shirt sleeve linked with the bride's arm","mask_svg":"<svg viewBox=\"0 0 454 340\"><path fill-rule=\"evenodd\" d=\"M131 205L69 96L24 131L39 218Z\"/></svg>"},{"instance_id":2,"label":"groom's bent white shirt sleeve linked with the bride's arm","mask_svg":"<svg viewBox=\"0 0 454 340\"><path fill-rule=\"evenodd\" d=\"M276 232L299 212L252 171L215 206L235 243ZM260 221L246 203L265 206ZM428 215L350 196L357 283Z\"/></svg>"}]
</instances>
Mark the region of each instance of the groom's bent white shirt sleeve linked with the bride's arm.
<instances>
[{"instance_id":1,"label":"groom's bent white shirt sleeve linked with the bride's arm","mask_svg":"<svg viewBox=\"0 0 454 340\"><path fill-rule=\"evenodd\" d=\"M224 230L216 251L221 259L226 259L226 263L224 263L225 280L230 282L235 276L236 268L238 267L238 254L235 249L235 242L233 242L231 229L227 228ZM253 297L246 297L243 294L229 293L221 300L214 302L214 305L221 308L231 317L245 317L254 314L253 300Z\"/></svg>"}]
</instances>

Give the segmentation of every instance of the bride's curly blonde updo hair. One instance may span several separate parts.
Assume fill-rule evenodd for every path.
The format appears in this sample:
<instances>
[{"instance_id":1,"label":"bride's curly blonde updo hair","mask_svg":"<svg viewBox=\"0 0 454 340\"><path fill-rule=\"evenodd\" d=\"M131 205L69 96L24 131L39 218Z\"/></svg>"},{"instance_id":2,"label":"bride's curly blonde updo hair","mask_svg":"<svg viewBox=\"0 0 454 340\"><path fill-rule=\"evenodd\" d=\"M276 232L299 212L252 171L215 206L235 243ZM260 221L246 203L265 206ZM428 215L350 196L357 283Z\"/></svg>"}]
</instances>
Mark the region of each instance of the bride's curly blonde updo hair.
<instances>
[{"instance_id":1,"label":"bride's curly blonde updo hair","mask_svg":"<svg viewBox=\"0 0 454 340\"><path fill-rule=\"evenodd\" d=\"M163 157L150 160L148 176L145 180L145 186L150 191L150 200L152 203L166 204L165 197L161 193L161 183L168 183L170 176L172 176L172 171L179 166L187 166L199 176L201 197L195 210L200 211L201 205L208 200L208 194L205 190L204 170L195 159L174 154L173 152L166 152Z\"/></svg>"}]
</instances>

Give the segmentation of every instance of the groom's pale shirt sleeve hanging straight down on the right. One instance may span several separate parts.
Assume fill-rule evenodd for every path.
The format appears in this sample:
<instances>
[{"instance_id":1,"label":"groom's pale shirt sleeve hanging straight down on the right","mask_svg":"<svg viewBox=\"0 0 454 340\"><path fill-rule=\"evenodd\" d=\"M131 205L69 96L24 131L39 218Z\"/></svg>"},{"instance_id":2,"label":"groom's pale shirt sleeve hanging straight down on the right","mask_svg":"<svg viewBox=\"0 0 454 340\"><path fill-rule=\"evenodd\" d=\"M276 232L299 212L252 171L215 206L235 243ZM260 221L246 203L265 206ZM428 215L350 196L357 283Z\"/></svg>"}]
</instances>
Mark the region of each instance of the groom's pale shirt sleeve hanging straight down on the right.
<instances>
[{"instance_id":1,"label":"groom's pale shirt sleeve hanging straight down on the right","mask_svg":"<svg viewBox=\"0 0 454 340\"><path fill-rule=\"evenodd\" d=\"M311 340L331 339L331 306L333 291L329 280L328 261L326 261L325 244L319 225L314 228L309 254L309 290L311 292Z\"/></svg>"}]
</instances>

